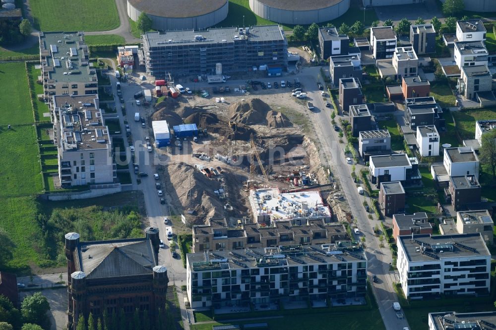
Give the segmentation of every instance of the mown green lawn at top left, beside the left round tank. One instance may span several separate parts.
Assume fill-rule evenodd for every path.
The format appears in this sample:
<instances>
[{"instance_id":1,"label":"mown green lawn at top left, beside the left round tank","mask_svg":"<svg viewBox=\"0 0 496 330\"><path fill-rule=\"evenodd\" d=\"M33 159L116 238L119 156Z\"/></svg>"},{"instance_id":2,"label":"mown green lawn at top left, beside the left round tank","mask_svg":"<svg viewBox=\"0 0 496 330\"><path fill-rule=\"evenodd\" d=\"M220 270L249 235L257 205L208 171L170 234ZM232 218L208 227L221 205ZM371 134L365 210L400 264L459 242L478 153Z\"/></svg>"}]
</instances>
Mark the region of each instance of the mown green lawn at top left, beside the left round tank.
<instances>
[{"instance_id":1,"label":"mown green lawn at top left, beside the left round tank","mask_svg":"<svg viewBox=\"0 0 496 330\"><path fill-rule=\"evenodd\" d=\"M31 0L39 31L107 31L120 25L115 0Z\"/></svg>"}]
</instances>

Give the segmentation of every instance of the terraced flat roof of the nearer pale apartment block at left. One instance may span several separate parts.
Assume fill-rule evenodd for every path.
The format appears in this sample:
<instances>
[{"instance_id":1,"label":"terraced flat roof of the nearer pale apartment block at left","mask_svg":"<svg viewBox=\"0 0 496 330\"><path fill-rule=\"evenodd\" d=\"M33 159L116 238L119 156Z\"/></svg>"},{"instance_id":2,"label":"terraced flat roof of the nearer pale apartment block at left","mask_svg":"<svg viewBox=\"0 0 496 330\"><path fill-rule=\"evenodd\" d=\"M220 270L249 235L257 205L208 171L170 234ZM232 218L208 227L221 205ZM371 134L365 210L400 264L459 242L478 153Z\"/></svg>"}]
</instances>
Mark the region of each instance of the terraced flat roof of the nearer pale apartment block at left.
<instances>
[{"instance_id":1,"label":"terraced flat roof of the nearer pale apartment block at left","mask_svg":"<svg viewBox=\"0 0 496 330\"><path fill-rule=\"evenodd\" d=\"M53 109L59 113L57 134L62 151L110 148L98 95L57 95L53 100Z\"/></svg>"}]
</instances>

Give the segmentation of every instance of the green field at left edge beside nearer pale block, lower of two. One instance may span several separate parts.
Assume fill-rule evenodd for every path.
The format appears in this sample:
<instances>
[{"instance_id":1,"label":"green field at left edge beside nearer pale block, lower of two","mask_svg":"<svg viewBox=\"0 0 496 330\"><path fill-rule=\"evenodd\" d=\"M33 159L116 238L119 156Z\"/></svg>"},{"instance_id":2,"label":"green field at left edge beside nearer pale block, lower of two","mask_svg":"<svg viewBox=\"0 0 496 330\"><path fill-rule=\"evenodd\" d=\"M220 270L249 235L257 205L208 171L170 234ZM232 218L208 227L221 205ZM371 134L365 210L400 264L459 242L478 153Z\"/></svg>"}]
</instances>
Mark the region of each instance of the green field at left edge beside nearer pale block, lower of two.
<instances>
[{"instance_id":1,"label":"green field at left edge beside nearer pale block, lower of two","mask_svg":"<svg viewBox=\"0 0 496 330\"><path fill-rule=\"evenodd\" d=\"M35 127L14 126L0 131L0 199L42 191Z\"/></svg>"}]
</instances>

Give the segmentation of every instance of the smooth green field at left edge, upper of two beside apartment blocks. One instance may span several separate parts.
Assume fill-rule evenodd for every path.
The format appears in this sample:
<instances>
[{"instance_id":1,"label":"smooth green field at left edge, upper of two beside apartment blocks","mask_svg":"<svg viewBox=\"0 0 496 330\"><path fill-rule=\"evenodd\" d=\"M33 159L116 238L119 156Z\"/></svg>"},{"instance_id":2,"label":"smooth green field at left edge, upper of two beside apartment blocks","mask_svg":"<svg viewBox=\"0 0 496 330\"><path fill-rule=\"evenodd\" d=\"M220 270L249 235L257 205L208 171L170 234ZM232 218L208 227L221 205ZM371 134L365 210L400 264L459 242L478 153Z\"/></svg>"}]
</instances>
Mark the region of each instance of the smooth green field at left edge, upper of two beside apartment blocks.
<instances>
[{"instance_id":1,"label":"smooth green field at left edge, upper of two beside apartment blocks","mask_svg":"<svg viewBox=\"0 0 496 330\"><path fill-rule=\"evenodd\" d=\"M0 86L0 126L32 123L33 110L24 62L0 64Z\"/></svg>"}]
</instances>

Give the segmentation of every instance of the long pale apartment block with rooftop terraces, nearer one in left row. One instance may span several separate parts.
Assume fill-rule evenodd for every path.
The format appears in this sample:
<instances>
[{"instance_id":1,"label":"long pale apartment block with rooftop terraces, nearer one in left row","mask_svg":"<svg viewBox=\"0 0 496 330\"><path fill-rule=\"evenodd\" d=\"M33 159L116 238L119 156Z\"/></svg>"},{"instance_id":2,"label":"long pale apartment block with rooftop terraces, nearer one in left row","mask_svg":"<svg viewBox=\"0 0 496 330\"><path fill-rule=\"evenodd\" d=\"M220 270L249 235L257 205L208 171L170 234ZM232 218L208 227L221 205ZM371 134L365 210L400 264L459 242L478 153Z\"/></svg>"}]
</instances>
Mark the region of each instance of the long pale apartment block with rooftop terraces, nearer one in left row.
<instances>
[{"instance_id":1,"label":"long pale apartment block with rooftop terraces, nearer one in left row","mask_svg":"<svg viewBox=\"0 0 496 330\"><path fill-rule=\"evenodd\" d=\"M113 183L117 168L98 95L54 96L52 111L61 186Z\"/></svg>"}]
</instances>

